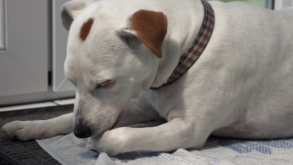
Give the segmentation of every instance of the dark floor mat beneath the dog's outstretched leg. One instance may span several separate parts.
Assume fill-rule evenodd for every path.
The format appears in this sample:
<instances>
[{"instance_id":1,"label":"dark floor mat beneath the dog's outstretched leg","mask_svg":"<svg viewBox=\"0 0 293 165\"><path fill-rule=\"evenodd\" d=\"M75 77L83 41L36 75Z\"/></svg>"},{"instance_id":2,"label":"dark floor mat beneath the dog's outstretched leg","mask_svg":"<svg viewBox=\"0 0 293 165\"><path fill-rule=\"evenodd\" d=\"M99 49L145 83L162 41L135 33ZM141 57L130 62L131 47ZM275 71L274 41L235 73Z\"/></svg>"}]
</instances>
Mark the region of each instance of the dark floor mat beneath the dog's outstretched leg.
<instances>
[{"instance_id":1,"label":"dark floor mat beneath the dog's outstretched leg","mask_svg":"<svg viewBox=\"0 0 293 165\"><path fill-rule=\"evenodd\" d=\"M73 111L73 105L1 112L0 128L11 121L44 120ZM14 161L14 162L13 162ZM36 141L20 142L0 133L0 165L60 165Z\"/></svg>"}]
</instances>

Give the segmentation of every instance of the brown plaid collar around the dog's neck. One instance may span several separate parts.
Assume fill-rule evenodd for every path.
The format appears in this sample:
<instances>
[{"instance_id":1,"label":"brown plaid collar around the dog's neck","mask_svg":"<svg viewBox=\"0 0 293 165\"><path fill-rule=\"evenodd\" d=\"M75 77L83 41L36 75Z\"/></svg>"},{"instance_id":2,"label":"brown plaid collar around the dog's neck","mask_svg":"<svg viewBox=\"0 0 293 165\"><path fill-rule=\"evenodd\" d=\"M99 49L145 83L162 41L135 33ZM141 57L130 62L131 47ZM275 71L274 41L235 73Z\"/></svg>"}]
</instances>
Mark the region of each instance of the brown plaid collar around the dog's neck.
<instances>
[{"instance_id":1,"label":"brown plaid collar around the dog's neck","mask_svg":"<svg viewBox=\"0 0 293 165\"><path fill-rule=\"evenodd\" d=\"M207 2L206 0L201 1L205 8L205 16L202 27L197 37L193 41L191 47L185 54L181 56L177 67L168 78L167 82L163 83L161 86L171 84L179 79L182 75L184 75L198 60L210 41L215 25L214 10L209 2ZM150 89L157 90L159 87L150 87Z\"/></svg>"}]
</instances>

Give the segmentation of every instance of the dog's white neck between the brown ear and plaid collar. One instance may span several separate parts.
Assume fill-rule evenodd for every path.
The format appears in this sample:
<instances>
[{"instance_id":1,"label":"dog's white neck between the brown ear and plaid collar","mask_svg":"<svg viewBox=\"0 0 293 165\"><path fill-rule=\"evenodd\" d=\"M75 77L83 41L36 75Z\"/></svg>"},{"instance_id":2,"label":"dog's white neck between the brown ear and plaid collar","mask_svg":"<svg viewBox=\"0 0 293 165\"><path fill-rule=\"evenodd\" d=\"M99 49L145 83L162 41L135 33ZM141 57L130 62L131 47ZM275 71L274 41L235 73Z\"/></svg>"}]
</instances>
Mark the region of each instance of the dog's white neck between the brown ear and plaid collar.
<instances>
[{"instance_id":1,"label":"dog's white neck between the brown ear and plaid collar","mask_svg":"<svg viewBox=\"0 0 293 165\"><path fill-rule=\"evenodd\" d=\"M182 5L181 0L178 3ZM161 9L168 18L168 32L162 47L163 57L159 59L152 87L166 83L178 65L180 57L188 50L200 31L204 6L201 0L186 0L186 3L184 7L175 7L176 12L174 12L174 6L172 9Z\"/></svg>"}]
</instances>

